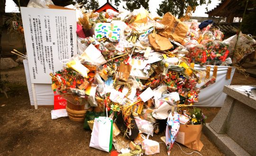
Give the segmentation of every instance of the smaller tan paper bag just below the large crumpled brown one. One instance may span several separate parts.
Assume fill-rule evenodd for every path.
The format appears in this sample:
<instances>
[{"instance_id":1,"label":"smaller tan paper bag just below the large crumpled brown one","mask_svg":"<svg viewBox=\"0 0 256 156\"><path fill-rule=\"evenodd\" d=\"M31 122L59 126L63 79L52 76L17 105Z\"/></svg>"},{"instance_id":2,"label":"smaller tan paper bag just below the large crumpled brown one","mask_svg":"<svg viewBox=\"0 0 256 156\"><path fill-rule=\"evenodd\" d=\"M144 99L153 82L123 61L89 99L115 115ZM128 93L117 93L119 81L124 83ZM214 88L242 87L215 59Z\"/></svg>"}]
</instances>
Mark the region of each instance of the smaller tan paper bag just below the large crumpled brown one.
<instances>
[{"instance_id":1,"label":"smaller tan paper bag just below the large crumpled brown one","mask_svg":"<svg viewBox=\"0 0 256 156\"><path fill-rule=\"evenodd\" d=\"M148 40L156 52L166 51L173 47L173 44L168 40L168 38L156 33L148 35Z\"/></svg>"}]
</instances>

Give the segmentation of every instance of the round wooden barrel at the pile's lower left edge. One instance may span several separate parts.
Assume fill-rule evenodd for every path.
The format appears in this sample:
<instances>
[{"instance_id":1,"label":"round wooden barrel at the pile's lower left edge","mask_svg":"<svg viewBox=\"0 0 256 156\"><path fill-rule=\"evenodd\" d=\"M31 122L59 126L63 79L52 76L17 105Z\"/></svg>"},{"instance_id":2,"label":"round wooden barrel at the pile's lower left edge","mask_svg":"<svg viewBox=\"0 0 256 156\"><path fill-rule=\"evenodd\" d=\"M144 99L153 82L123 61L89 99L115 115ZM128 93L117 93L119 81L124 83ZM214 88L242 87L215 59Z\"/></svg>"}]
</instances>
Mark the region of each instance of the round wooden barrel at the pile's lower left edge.
<instances>
[{"instance_id":1,"label":"round wooden barrel at the pile's lower left edge","mask_svg":"<svg viewBox=\"0 0 256 156\"><path fill-rule=\"evenodd\" d=\"M84 105L75 105L70 102L67 102L66 105L68 117L71 121L74 122L84 122L85 113L87 111L92 111L92 109L92 107L89 109L85 109Z\"/></svg>"}]
</instances>

